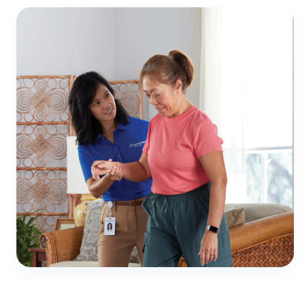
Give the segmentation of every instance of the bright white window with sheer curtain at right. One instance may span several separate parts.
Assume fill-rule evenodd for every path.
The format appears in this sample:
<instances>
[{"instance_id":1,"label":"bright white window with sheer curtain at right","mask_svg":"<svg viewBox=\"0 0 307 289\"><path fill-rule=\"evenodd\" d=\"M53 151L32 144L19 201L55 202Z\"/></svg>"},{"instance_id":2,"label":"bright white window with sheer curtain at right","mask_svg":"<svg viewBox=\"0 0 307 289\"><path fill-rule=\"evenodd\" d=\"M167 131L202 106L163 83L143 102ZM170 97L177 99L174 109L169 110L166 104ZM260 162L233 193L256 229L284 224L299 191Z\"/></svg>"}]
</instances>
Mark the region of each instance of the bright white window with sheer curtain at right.
<instances>
[{"instance_id":1,"label":"bright white window with sheer curtain at right","mask_svg":"<svg viewBox=\"0 0 307 289\"><path fill-rule=\"evenodd\" d=\"M224 140L226 203L291 206L293 16L206 7L201 23L199 106Z\"/></svg>"}]
</instances>

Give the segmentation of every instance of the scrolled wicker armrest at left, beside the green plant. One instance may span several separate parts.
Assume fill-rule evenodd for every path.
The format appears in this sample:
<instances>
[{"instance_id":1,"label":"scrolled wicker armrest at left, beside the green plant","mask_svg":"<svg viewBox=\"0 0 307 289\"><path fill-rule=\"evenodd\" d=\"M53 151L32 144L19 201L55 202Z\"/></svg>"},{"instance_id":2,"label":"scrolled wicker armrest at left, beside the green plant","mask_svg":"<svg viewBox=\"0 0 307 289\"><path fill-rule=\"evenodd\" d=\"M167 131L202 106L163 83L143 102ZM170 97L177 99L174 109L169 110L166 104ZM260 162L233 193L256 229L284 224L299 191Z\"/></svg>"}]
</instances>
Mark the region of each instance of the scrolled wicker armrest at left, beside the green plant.
<instances>
[{"instance_id":1,"label":"scrolled wicker armrest at left, beside the green plant","mask_svg":"<svg viewBox=\"0 0 307 289\"><path fill-rule=\"evenodd\" d=\"M47 267L62 261L72 261L80 254L84 226L44 233L40 245L46 251Z\"/></svg>"}]
</instances>

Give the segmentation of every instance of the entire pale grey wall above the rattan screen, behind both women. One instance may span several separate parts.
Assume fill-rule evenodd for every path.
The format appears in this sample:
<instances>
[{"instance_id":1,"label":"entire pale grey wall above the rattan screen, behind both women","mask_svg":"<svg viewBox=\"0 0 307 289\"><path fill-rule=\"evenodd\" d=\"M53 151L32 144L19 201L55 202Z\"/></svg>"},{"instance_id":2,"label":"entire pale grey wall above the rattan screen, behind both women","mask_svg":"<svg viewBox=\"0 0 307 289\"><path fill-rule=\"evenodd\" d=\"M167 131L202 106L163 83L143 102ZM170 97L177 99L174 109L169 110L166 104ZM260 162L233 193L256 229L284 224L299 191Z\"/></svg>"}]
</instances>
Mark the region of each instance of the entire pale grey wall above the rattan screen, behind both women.
<instances>
[{"instance_id":1,"label":"entire pale grey wall above the rattan screen, behind both women","mask_svg":"<svg viewBox=\"0 0 307 289\"><path fill-rule=\"evenodd\" d=\"M147 59L178 49L193 61L195 7L27 7L17 17L17 75L139 79ZM187 94L189 98L189 95ZM156 110L143 97L143 119Z\"/></svg>"}]
</instances>

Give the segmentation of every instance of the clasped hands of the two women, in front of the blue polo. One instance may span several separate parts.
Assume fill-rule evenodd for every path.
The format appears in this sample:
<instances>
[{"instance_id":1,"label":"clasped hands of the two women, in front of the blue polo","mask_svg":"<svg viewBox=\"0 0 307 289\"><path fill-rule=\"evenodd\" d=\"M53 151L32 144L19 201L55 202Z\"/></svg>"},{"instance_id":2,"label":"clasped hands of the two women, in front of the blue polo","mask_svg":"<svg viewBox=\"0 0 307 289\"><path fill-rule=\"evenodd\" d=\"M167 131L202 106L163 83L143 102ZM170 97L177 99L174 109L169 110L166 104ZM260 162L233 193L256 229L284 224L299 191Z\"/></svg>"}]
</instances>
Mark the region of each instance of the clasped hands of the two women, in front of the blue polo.
<instances>
[{"instance_id":1,"label":"clasped hands of the two women, in front of the blue polo","mask_svg":"<svg viewBox=\"0 0 307 289\"><path fill-rule=\"evenodd\" d=\"M105 174L108 178L115 181L120 181L123 177L122 164L119 162L94 161L91 165L91 175L95 181L99 181L99 175Z\"/></svg>"}]
</instances>

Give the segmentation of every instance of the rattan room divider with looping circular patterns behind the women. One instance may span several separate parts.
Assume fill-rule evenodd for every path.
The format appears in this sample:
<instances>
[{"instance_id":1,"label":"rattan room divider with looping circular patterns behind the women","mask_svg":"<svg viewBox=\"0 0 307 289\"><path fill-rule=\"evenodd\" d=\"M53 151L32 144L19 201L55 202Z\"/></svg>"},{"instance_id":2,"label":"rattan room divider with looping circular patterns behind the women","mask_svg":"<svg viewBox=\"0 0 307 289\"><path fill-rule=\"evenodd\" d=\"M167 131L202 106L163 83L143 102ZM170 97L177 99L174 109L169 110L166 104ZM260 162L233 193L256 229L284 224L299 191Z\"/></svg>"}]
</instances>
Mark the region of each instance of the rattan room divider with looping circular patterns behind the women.
<instances>
[{"instance_id":1,"label":"rattan room divider with looping circular patterns behind the women","mask_svg":"<svg viewBox=\"0 0 307 289\"><path fill-rule=\"evenodd\" d=\"M79 195L66 193L66 137L74 136L69 93L76 76L16 77L16 211L37 216L37 229L54 230L72 218ZM112 81L115 98L130 116L142 119L139 80Z\"/></svg>"}]
</instances>

